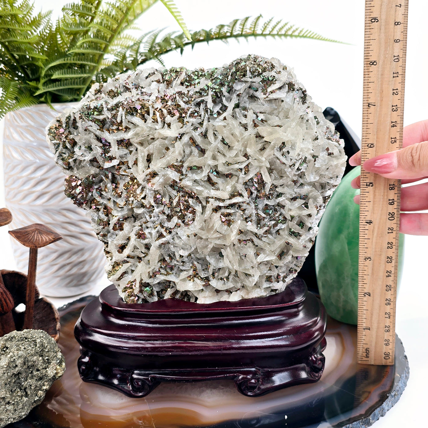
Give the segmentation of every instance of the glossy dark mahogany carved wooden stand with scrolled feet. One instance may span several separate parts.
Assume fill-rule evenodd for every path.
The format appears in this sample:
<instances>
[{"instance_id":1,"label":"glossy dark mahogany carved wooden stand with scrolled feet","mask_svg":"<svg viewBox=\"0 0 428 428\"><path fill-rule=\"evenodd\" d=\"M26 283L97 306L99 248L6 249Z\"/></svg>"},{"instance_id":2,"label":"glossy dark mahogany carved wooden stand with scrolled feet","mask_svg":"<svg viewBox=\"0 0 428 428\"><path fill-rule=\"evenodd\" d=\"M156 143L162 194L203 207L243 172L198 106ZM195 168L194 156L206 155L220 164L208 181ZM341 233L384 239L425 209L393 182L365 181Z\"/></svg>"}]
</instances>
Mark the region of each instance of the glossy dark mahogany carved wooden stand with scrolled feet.
<instances>
[{"instance_id":1,"label":"glossy dark mahogany carved wooden stand with scrolled feet","mask_svg":"<svg viewBox=\"0 0 428 428\"><path fill-rule=\"evenodd\" d=\"M326 313L302 279L268 297L199 304L127 304L114 285L77 321L80 376L131 397L160 382L232 379L244 395L316 382Z\"/></svg>"}]
</instances>

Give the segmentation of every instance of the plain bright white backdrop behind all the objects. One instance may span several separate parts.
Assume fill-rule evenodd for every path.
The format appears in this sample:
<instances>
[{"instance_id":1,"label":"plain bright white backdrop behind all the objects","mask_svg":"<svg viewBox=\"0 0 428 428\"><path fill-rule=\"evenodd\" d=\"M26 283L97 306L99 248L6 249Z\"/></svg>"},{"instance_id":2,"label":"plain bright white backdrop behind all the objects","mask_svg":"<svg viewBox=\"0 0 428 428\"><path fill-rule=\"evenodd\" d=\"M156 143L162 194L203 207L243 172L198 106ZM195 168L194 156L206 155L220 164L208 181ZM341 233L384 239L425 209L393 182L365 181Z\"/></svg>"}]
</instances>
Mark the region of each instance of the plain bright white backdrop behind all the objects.
<instances>
[{"instance_id":1,"label":"plain bright white backdrop behind all the objects","mask_svg":"<svg viewBox=\"0 0 428 428\"><path fill-rule=\"evenodd\" d=\"M63 0L37 0L38 8L52 8L57 14ZM334 107L349 125L361 135L361 107L363 82L364 1L343 0L176 0L190 30L215 27L234 18L259 13L264 18L284 18L293 24L309 28L332 39L350 43L333 44L313 40L250 40L229 45L213 42L210 47L197 45L193 51L170 53L166 66L184 65L187 68L213 67L230 62L247 53L275 56L294 67L297 78L306 86L314 101L324 107ZM158 19L158 14L162 18ZM172 18L165 18L159 3L145 15L141 27L176 28ZM426 17L428 2L410 0L407 45L407 72L404 121L405 125L428 118L428 31ZM156 24L157 23L157 24ZM1 163L0 163L1 165ZM4 206L3 185L0 183L0 205ZM0 229L0 268L12 269L14 262L6 228ZM427 389L425 358L428 354L426 325L428 324L427 289L428 237L408 236L405 249L404 275L398 297L396 330L403 340L410 362L410 380L400 401L375 428L425 427L425 395ZM99 289L99 287L98 287ZM94 290L95 292L95 290ZM69 300L69 299L67 299ZM56 301L58 304L63 301Z\"/></svg>"}]
</instances>

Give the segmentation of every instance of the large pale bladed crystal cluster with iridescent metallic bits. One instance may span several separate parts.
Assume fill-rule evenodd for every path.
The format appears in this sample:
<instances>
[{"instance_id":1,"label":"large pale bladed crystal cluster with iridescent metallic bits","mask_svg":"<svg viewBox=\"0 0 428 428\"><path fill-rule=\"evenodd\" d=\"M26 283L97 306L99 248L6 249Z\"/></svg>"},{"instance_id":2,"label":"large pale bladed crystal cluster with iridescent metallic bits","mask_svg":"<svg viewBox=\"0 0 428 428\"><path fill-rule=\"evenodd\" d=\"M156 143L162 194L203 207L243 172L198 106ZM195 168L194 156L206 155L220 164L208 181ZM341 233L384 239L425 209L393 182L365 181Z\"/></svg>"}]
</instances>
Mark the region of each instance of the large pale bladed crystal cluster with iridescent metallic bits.
<instances>
[{"instance_id":1,"label":"large pale bladed crystal cluster with iridescent metallic bits","mask_svg":"<svg viewBox=\"0 0 428 428\"><path fill-rule=\"evenodd\" d=\"M255 55L95 84L48 142L127 303L283 291L345 168L292 69Z\"/></svg>"}]
</instances>

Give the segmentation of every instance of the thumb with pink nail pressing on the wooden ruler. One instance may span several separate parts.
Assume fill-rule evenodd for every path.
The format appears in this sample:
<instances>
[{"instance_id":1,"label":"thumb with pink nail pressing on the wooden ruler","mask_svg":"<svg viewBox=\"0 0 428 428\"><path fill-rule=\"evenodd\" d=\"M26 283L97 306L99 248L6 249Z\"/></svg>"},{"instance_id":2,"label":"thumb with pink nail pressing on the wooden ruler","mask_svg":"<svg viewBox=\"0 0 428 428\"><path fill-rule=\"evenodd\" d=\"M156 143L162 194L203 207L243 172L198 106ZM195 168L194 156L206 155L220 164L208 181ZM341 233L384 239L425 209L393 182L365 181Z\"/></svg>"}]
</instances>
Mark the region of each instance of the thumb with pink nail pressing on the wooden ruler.
<instances>
[{"instance_id":1,"label":"thumb with pink nail pressing on the wooden ruler","mask_svg":"<svg viewBox=\"0 0 428 428\"><path fill-rule=\"evenodd\" d=\"M363 168L387 178L426 177L428 175L428 141L366 160Z\"/></svg>"}]
</instances>

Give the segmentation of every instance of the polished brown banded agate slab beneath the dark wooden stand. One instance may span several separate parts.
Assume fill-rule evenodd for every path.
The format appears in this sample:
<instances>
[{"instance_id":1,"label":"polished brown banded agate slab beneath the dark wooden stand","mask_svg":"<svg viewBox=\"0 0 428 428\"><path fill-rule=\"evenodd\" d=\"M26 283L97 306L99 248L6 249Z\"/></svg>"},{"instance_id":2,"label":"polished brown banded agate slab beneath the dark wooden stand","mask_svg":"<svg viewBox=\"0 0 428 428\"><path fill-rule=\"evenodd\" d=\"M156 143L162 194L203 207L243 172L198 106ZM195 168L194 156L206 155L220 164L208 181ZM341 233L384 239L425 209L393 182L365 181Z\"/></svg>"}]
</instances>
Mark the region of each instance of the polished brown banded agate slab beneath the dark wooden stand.
<instances>
[{"instance_id":1,"label":"polished brown banded agate slab beneath the dark wooden stand","mask_svg":"<svg viewBox=\"0 0 428 428\"><path fill-rule=\"evenodd\" d=\"M80 351L74 325L92 299L86 297L60 309L62 331L58 344L67 370L43 403L17 426L249 428L321 423L327 428L348 427L366 418L370 422L361 426L369 426L379 413L395 404L407 381L407 358L398 338L395 366L362 366L356 363L356 327L329 318L325 368L316 383L291 386L261 397L245 397L231 380L161 383L146 398L129 398L105 386L83 382L77 371Z\"/></svg>"}]
</instances>

